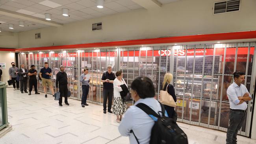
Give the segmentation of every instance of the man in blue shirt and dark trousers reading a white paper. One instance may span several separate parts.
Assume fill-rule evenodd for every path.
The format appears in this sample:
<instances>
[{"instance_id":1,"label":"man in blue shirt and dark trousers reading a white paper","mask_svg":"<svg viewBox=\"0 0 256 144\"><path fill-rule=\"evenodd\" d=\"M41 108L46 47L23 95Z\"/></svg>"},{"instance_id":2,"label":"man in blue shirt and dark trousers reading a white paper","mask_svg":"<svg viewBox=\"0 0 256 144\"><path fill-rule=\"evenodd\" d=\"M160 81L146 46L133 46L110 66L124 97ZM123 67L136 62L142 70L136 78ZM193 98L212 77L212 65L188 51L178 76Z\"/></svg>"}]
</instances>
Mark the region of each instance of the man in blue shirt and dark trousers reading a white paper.
<instances>
[{"instance_id":1,"label":"man in blue shirt and dark trousers reading a white paper","mask_svg":"<svg viewBox=\"0 0 256 144\"><path fill-rule=\"evenodd\" d=\"M89 72L89 70L87 69L87 68L85 68L84 70L83 70L83 74L81 74L81 76L80 76L80 82L82 82L82 91L83 91L83 94L82 94L82 102L81 102L81 105L82 105L82 107L84 107L84 105L88 105L87 103L86 103L86 100L87 100L87 95L88 95L88 92L89 92L89 88L90 88L90 86L89 86L89 82L90 82L90 78L89 78L89 80L86 80L86 79L88 79L87 77L88 77L88 72Z\"/></svg>"}]
</instances>

